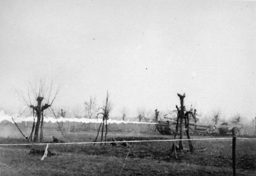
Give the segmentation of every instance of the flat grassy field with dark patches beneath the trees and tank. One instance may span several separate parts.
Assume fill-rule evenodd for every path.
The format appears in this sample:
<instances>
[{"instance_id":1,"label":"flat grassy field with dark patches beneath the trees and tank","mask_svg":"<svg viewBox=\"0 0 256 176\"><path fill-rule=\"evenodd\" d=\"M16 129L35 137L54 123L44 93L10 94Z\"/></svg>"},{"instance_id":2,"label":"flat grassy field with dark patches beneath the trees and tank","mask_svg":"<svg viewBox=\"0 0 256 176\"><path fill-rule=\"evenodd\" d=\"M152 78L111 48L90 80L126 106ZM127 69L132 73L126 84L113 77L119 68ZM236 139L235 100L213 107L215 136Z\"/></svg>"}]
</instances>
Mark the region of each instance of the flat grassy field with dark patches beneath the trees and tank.
<instances>
[{"instance_id":1,"label":"flat grassy field with dark patches beneath the trees and tank","mask_svg":"<svg viewBox=\"0 0 256 176\"><path fill-rule=\"evenodd\" d=\"M71 125L70 125L71 124ZM46 124L44 142L52 136L67 142L91 142L96 138L94 124L87 129L81 124L64 124L64 138L53 124ZM76 127L74 127L76 125ZM29 134L31 125L20 128ZM71 127L70 127L71 126ZM98 125L96 126L98 128ZM1 125L0 144L27 143L13 125ZM108 137L121 140L164 140L146 124L110 124ZM3 132L3 133L2 133ZM8 136L7 136L8 133ZM230 137L230 136L228 136ZM192 137L199 138L199 137ZM206 138L206 137L200 137ZM212 138L212 137L211 137ZM216 137L214 137L216 138ZM100 138L99 138L100 139ZM44 150L46 145L0 146L1 176L4 175L232 175L232 140L192 141L195 153L170 153L173 142L138 142L131 147L96 144L49 145L56 155L44 158L42 153L29 154L31 149ZM256 140L238 140L236 146L237 175L256 175ZM184 141L184 147L188 142ZM200 151L205 149L204 151Z\"/></svg>"}]
</instances>

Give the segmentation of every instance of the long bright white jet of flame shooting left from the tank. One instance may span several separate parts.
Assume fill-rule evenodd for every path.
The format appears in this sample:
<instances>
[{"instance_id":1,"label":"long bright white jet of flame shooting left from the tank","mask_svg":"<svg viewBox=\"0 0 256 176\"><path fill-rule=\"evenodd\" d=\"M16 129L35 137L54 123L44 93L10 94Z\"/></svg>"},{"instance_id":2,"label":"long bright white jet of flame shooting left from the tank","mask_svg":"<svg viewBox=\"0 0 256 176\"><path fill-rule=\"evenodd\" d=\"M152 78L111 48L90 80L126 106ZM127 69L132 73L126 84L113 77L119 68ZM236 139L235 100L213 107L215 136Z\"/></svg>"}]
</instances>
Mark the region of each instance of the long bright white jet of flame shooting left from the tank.
<instances>
[{"instance_id":1,"label":"long bright white jet of flame shooting left from the tank","mask_svg":"<svg viewBox=\"0 0 256 176\"><path fill-rule=\"evenodd\" d=\"M33 116L18 117L16 115L16 117L15 117L15 116L10 116L10 115L5 114L5 112L3 110L0 111L0 122L2 122L3 120L13 122L12 117L15 120L16 123L33 122L34 121ZM36 121L37 121L37 118L35 118L35 122ZM56 123L57 121L58 122L101 123L102 119L97 120L95 118L89 119L89 118L63 118L63 117L60 117L56 120L56 118L54 118L54 117L44 117L44 122ZM108 123L116 123L116 124L120 124L120 123L156 124L156 123L149 123L149 122L130 122L130 121L112 120L112 119L109 119Z\"/></svg>"}]
</instances>

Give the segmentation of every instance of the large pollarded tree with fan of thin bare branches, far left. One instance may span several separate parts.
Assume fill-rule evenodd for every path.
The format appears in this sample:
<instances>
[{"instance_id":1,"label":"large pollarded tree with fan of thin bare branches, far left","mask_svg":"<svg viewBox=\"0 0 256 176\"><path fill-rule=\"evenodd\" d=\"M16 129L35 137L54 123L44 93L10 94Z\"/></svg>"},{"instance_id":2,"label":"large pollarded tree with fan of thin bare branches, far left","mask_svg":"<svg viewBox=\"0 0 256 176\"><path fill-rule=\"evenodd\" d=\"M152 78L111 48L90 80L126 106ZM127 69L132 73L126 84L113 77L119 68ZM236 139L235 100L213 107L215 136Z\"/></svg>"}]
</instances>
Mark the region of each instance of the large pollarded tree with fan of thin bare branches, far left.
<instances>
[{"instance_id":1,"label":"large pollarded tree with fan of thin bare branches, far left","mask_svg":"<svg viewBox=\"0 0 256 176\"><path fill-rule=\"evenodd\" d=\"M38 86L39 82L39 86ZM32 135L34 133L34 142L38 141L38 135L39 135L39 127L40 127L40 141L43 140L43 131L44 131L44 114L45 111L51 107L52 103L54 102L57 93L59 92L59 86L57 87L54 94L52 94L52 88L53 88L53 82L51 84L47 85L46 82L43 82L42 79L36 82L35 87L32 87L31 83L29 83L28 88L28 98L29 100L25 99L24 94L23 99L25 103L32 109L33 115L34 115L34 123L32 127L32 132L30 134L29 139L32 140ZM30 92L30 89L32 90L32 93ZM34 98L36 100L36 105L32 105L30 94L34 95ZM35 117L37 117L37 122L35 124ZM41 126L40 126L41 125Z\"/></svg>"}]
</instances>

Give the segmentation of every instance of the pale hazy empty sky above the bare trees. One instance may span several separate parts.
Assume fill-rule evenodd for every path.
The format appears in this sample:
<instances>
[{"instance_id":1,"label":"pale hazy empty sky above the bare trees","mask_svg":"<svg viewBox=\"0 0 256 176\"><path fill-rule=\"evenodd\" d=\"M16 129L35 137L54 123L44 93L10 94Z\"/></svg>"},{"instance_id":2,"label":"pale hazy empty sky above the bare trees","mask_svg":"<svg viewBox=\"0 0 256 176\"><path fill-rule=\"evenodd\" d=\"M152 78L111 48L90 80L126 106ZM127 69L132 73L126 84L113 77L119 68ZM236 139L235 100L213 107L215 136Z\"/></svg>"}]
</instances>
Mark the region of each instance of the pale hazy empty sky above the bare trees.
<instances>
[{"instance_id":1,"label":"pale hazy empty sky above the bare trees","mask_svg":"<svg viewBox=\"0 0 256 176\"><path fill-rule=\"evenodd\" d=\"M253 1L0 0L0 107L36 78L63 84L54 106L173 110L186 93L206 115L256 114ZM19 101L20 99L20 101Z\"/></svg>"}]
</instances>

